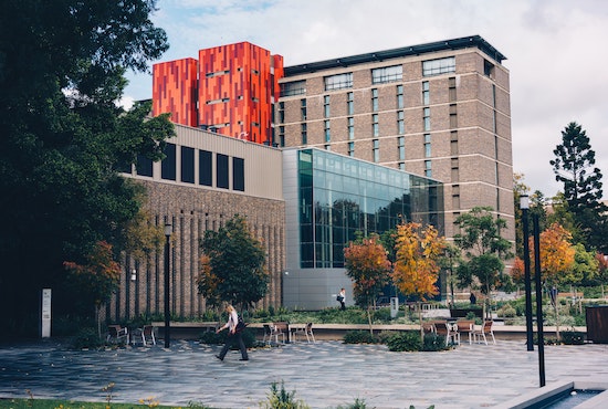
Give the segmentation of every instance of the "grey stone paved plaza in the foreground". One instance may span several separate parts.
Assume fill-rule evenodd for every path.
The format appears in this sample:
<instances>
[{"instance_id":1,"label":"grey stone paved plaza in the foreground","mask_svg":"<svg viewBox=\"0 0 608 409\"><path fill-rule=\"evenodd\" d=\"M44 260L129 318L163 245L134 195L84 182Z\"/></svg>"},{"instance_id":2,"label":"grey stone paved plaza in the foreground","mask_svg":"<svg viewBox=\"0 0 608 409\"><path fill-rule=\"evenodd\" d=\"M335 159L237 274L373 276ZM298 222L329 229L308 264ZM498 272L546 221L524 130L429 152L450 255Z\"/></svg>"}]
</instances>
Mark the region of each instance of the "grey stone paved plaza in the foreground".
<instances>
[{"instance_id":1,"label":"grey stone paved plaza in the foreground","mask_svg":"<svg viewBox=\"0 0 608 409\"><path fill-rule=\"evenodd\" d=\"M384 345L296 343L252 349L249 361L220 346L175 340L151 347L71 350L56 340L0 345L0 398L104 401L149 399L187 407L259 408L272 382L311 408L364 399L368 408L491 408L538 388L538 354L521 340L463 344L440 353L391 353ZM547 385L559 380L608 382L608 345L546 346ZM1 406L0 401L0 406Z\"/></svg>"}]
</instances>

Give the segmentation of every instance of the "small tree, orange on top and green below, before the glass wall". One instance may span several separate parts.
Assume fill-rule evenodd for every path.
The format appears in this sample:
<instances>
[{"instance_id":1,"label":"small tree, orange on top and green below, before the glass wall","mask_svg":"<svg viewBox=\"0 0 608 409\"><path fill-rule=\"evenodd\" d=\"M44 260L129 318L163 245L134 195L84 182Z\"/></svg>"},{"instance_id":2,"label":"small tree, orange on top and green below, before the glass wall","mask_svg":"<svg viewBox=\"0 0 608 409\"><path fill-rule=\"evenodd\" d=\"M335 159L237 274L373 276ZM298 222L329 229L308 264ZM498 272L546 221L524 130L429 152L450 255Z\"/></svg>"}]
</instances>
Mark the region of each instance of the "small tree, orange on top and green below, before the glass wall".
<instances>
[{"instance_id":1,"label":"small tree, orange on top and green below, before the glass wall","mask_svg":"<svg viewBox=\"0 0 608 409\"><path fill-rule=\"evenodd\" d=\"M350 242L344 249L346 275L355 282L353 293L357 304L365 306L369 332L371 328L371 306L378 294L390 281L391 263L387 251L375 235L359 242Z\"/></svg>"}]
</instances>

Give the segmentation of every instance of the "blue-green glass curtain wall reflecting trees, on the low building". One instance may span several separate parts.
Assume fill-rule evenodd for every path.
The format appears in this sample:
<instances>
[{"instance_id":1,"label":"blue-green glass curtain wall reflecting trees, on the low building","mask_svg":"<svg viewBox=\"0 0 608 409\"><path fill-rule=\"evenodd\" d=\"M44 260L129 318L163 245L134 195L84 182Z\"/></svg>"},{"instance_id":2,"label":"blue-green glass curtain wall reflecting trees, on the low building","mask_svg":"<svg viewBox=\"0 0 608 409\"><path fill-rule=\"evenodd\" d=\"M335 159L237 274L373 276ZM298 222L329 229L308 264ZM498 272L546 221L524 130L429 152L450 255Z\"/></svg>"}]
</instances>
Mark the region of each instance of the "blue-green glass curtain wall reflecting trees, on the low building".
<instances>
[{"instance_id":1,"label":"blue-green glass curtain wall reflecting trees, on the low building","mask_svg":"<svg viewBox=\"0 0 608 409\"><path fill-rule=\"evenodd\" d=\"M344 268L344 247L401 220L443 231L442 185L319 149L298 151L301 268Z\"/></svg>"}]
</instances>

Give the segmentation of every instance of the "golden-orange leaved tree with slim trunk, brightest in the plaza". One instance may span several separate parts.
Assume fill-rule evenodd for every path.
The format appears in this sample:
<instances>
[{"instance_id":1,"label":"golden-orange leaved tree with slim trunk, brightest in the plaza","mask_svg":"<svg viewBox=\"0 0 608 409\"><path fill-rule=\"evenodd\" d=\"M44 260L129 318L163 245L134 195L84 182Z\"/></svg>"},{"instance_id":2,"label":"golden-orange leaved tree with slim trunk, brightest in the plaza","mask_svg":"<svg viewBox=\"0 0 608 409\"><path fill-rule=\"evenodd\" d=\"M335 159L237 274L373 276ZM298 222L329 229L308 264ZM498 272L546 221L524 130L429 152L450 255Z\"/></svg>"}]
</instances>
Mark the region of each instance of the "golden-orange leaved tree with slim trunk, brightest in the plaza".
<instances>
[{"instance_id":1,"label":"golden-orange leaved tree with slim trunk, brightest in the plaza","mask_svg":"<svg viewBox=\"0 0 608 409\"><path fill-rule=\"evenodd\" d=\"M420 223L402 223L397 227L397 259L392 270L392 281L406 295L417 296L419 302L438 293L438 260L443 254L445 240L439 237L437 229ZM420 336L423 337L422 313L418 308Z\"/></svg>"}]
</instances>

